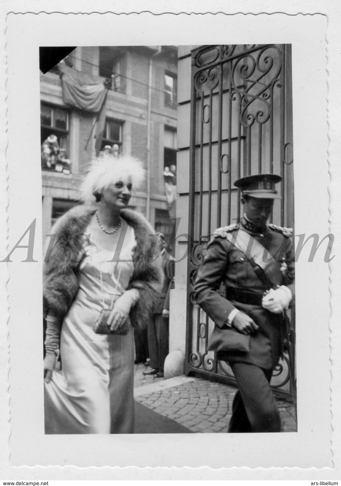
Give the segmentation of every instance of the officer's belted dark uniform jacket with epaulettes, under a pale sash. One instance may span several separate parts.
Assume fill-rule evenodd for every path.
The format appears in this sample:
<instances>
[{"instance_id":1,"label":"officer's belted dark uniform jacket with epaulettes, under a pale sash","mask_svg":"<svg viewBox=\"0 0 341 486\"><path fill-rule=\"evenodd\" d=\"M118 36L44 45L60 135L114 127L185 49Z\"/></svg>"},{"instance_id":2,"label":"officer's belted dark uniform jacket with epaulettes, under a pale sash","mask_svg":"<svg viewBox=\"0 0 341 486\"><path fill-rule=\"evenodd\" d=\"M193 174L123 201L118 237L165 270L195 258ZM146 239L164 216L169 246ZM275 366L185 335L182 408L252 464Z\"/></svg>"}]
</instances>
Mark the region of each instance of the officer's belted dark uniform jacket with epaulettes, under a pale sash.
<instances>
[{"instance_id":1,"label":"officer's belted dark uniform jacket with epaulettes, under a pale sash","mask_svg":"<svg viewBox=\"0 0 341 486\"><path fill-rule=\"evenodd\" d=\"M227 231L246 231L260 242L275 258L281 267L282 285L286 285L294 294L294 254L292 240L284 228L274 225L267 226L264 234L247 231L240 224L221 228ZM255 274L251 263L242 251L224 238L224 231L218 231L210 242L207 253L195 280L195 301L211 317L214 323L222 328L227 324L227 317L233 309L238 309L249 315L259 326L259 330L251 334L249 352L228 352L220 356L222 359L234 362L257 364L264 369L276 366L282 353L284 336L284 319L282 314L269 312L261 304L240 303L229 298L235 291L255 293L260 297L266 290L262 281ZM252 251L251 251L252 255ZM226 295L220 295L218 290L224 283Z\"/></svg>"}]
</instances>

